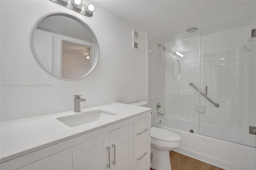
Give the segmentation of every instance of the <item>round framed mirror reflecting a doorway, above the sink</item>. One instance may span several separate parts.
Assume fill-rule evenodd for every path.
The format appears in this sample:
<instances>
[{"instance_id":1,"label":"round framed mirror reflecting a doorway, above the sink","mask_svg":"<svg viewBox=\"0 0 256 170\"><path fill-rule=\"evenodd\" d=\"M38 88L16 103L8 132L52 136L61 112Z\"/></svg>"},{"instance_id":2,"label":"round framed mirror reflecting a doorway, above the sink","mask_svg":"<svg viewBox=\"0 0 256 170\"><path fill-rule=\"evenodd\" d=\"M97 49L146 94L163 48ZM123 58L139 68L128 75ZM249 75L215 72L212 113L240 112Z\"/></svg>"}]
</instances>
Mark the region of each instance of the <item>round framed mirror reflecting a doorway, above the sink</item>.
<instances>
[{"instance_id":1,"label":"round framed mirror reflecting a doorway, above the sink","mask_svg":"<svg viewBox=\"0 0 256 170\"><path fill-rule=\"evenodd\" d=\"M40 18L32 30L31 47L46 72L69 81L88 76L99 59L99 45L92 29L67 13Z\"/></svg>"}]
</instances>

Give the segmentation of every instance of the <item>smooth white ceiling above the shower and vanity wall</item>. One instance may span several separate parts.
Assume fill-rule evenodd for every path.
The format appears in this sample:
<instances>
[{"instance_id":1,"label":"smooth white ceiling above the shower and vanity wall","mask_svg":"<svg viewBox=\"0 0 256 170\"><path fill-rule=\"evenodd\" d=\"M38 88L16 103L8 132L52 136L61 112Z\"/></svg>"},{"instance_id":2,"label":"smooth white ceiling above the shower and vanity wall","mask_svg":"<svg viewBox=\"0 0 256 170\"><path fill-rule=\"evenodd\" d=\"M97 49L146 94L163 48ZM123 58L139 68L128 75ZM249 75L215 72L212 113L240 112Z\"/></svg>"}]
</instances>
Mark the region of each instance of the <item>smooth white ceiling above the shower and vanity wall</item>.
<instances>
[{"instance_id":1,"label":"smooth white ceiling above the shower and vanity wall","mask_svg":"<svg viewBox=\"0 0 256 170\"><path fill-rule=\"evenodd\" d=\"M163 38L256 14L256 0L92 0L102 8Z\"/></svg>"}]
</instances>

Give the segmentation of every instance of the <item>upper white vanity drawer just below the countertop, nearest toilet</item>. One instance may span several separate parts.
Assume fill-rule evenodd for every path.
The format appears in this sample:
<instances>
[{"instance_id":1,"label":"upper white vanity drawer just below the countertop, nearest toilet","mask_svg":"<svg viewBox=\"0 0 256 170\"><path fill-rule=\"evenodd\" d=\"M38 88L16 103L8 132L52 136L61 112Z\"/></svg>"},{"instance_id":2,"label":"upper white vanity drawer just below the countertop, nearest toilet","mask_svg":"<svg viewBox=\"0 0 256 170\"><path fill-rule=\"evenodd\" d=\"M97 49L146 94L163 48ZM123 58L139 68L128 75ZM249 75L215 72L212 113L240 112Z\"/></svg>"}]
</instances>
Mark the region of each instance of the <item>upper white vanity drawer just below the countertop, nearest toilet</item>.
<instances>
[{"instance_id":1,"label":"upper white vanity drawer just below the countertop, nearest toilet","mask_svg":"<svg viewBox=\"0 0 256 170\"><path fill-rule=\"evenodd\" d=\"M149 138L150 117L140 119L133 124L133 147L135 148Z\"/></svg>"}]
</instances>

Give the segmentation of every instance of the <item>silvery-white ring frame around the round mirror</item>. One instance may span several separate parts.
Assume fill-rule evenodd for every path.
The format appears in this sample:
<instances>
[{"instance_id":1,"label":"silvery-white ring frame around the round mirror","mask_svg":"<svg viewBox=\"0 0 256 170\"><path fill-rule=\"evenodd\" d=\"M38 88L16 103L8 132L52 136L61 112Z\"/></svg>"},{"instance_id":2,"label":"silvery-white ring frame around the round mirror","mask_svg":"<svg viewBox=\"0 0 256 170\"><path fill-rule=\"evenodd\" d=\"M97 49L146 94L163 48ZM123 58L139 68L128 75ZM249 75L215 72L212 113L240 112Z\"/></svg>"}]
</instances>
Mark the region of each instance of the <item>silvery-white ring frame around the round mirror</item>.
<instances>
[{"instance_id":1,"label":"silvery-white ring frame around the round mirror","mask_svg":"<svg viewBox=\"0 0 256 170\"><path fill-rule=\"evenodd\" d=\"M38 26L38 24L44 19L44 18L48 18L50 16L65 16L65 17L68 17L68 18L71 18L73 20L75 20L76 22L78 22L79 24L81 24L85 29L87 29L90 34L92 35L92 41L94 42L95 44L95 53L94 53L94 61L92 63L92 67L90 68L90 70L85 74L83 75L82 77L79 77L77 79L65 79L65 78L62 78L62 77L59 77L55 74L53 74L51 71L49 71L44 65L43 63L40 61L37 53L36 53L36 49L35 49L35 45L34 45L34 34L35 34L35 31L36 31L36 27ZM98 44L98 40L94 34L94 32L92 31L92 29L82 20L80 20L78 17L72 15L72 14L68 14L66 12L51 12L49 14L46 14L44 16L42 16L35 24L33 30L32 30L32 33L31 33L31 36L30 36L30 45L31 45L31 49L32 49L32 53L36 59L36 61L38 62L38 64L44 69L44 71L46 71L47 73L49 73L50 75L58 78L58 79L62 79L62 80L66 80L66 81L77 81L77 80L80 80L80 79L83 79L84 77L87 77L88 75L90 75L92 73L92 71L95 69L97 63L98 63L98 60L99 60L99 56L100 56L100 48L99 48L99 44Z\"/></svg>"}]
</instances>

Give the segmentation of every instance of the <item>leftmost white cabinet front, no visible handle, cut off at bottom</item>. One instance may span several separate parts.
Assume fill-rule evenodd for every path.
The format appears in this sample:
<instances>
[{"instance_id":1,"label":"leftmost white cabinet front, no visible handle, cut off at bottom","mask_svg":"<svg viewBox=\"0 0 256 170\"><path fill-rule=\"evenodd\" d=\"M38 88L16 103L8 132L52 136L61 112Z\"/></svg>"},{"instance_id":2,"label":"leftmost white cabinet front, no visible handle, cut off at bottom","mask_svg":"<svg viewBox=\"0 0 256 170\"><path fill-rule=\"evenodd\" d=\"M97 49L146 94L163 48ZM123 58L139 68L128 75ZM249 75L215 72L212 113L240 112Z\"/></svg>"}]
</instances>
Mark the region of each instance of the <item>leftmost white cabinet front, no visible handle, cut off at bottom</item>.
<instances>
[{"instance_id":1,"label":"leftmost white cabinet front, no visible handle, cut off at bottom","mask_svg":"<svg viewBox=\"0 0 256 170\"><path fill-rule=\"evenodd\" d=\"M72 170L72 150L63 150L17 170Z\"/></svg>"}]
</instances>

